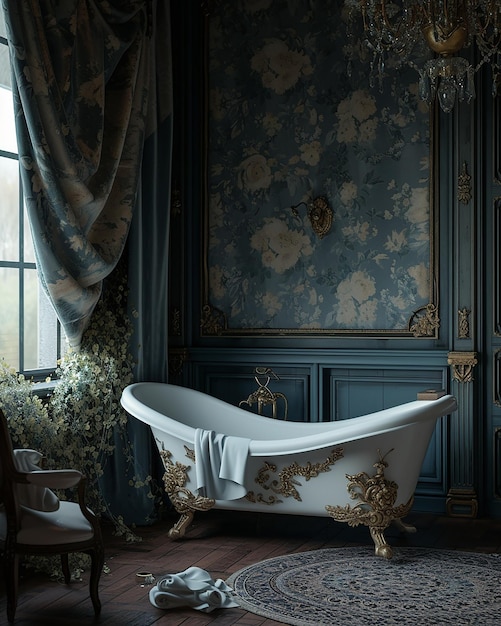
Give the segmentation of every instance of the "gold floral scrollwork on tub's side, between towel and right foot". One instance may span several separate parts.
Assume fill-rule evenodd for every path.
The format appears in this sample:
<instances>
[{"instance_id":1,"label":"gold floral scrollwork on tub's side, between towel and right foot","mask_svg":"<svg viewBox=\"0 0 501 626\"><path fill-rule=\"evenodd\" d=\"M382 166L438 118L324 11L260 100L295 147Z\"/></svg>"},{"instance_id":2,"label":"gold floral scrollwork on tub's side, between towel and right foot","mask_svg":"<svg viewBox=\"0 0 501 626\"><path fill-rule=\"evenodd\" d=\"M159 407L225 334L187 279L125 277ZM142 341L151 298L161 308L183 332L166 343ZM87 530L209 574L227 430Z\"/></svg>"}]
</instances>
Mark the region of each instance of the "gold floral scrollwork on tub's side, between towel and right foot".
<instances>
[{"instance_id":1,"label":"gold floral scrollwork on tub's side, between towel and right foot","mask_svg":"<svg viewBox=\"0 0 501 626\"><path fill-rule=\"evenodd\" d=\"M264 490L273 492L268 496L263 496L262 493L254 493L249 491L247 493L247 500L250 502L259 502L261 504L277 504L283 502L277 496L277 494L284 498L294 498L298 502L301 502L301 496L295 485L301 486L301 483L296 480L297 476L302 476L305 480L311 480L323 472L330 472L331 466L336 461L343 458L343 448L334 448L325 461L322 463L311 463L308 461L305 465L299 465L294 462L278 472L278 478L273 478L271 475L277 473L277 466L273 463L265 461L263 467L258 471L254 482L260 485Z\"/></svg>"}]
</instances>

